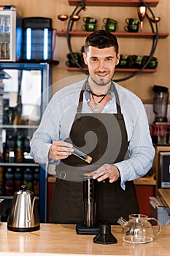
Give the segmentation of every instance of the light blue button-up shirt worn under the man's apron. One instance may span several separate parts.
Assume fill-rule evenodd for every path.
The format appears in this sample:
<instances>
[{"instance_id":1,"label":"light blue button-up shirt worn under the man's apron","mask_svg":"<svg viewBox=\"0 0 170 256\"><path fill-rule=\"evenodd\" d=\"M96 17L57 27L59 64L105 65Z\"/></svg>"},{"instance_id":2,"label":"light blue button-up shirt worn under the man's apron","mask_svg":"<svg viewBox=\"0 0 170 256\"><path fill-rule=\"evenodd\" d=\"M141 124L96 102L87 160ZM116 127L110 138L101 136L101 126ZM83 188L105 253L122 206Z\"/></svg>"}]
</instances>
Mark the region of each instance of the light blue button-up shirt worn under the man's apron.
<instances>
[{"instance_id":1,"label":"light blue button-up shirt worn under the man's apron","mask_svg":"<svg viewBox=\"0 0 170 256\"><path fill-rule=\"evenodd\" d=\"M31 157L39 164L49 163L48 152L53 141L65 140L69 137L84 83L85 80L82 80L57 91L47 105L42 121L30 143ZM128 134L130 158L115 163L120 171L121 187L125 189L125 181L141 178L150 170L155 149L152 146L147 114L141 99L117 83L115 86ZM112 91L111 96L102 113L117 113L115 94ZM83 97L82 113L93 113L88 106L87 95Z\"/></svg>"}]
</instances>

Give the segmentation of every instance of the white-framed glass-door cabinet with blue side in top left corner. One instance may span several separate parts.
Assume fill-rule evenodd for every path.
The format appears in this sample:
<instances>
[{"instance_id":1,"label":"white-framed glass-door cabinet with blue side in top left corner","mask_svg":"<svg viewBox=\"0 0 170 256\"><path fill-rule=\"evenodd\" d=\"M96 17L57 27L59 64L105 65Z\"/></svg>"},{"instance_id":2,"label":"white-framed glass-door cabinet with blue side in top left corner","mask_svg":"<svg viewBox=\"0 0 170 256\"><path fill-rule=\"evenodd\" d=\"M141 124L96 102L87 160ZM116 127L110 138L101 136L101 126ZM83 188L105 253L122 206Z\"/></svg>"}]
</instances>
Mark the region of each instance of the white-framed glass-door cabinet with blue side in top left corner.
<instances>
[{"instance_id":1,"label":"white-framed glass-door cabinet with blue side in top left corner","mask_svg":"<svg viewBox=\"0 0 170 256\"><path fill-rule=\"evenodd\" d=\"M0 61L21 58L22 19L15 6L0 7Z\"/></svg>"}]
</instances>

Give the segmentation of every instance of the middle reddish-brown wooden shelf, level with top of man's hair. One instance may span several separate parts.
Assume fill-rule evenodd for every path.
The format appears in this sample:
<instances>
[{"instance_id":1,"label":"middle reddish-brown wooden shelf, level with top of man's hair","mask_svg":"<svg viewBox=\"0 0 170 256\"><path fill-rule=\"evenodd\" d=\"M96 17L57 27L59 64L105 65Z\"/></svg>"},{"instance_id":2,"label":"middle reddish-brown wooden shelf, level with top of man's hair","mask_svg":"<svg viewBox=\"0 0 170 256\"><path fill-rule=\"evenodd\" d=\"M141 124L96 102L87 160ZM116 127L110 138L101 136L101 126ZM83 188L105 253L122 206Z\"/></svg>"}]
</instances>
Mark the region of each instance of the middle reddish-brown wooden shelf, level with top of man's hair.
<instances>
[{"instance_id":1,"label":"middle reddish-brown wooden shelf, level with top of man's hair","mask_svg":"<svg viewBox=\"0 0 170 256\"><path fill-rule=\"evenodd\" d=\"M86 37L88 34L91 32L88 31L70 31L69 35L72 37ZM152 38L155 37L155 33L150 33L150 32L137 32L137 33L132 33L132 32L112 32L112 34L115 34L116 37L132 37L132 38ZM56 35L58 37L66 37L66 31L56 31ZM159 33L158 37L159 38L166 38L169 36L169 33Z\"/></svg>"}]
</instances>

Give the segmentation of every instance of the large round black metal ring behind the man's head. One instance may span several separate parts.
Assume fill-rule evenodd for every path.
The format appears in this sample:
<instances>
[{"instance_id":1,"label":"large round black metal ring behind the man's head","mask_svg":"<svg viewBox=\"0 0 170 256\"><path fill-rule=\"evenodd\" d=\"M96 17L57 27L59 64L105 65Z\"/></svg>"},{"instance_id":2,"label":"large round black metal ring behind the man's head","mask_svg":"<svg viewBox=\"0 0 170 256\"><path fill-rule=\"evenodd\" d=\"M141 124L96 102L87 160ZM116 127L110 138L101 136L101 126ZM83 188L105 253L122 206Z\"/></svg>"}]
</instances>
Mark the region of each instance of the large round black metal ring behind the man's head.
<instances>
[{"instance_id":1,"label":"large round black metal ring behind the man's head","mask_svg":"<svg viewBox=\"0 0 170 256\"><path fill-rule=\"evenodd\" d=\"M72 16L73 15L79 15L79 13L82 11L82 10L86 10L86 7L85 7L85 1L86 0L82 0L79 4L77 4L77 7L75 7L75 9L73 10L72 12L72 15L70 15L70 18L69 18L69 22L68 22L68 25L67 25L67 29L66 29L66 39L67 39L67 45L68 45L68 48L69 48L69 52L71 53L71 56L72 56L72 59L74 59L75 63L77 64L78 67L80 67L80 69L82 70L82 72L84 72L86 75L88 75L88 71L85 70L77 61L77 59L74 58L74 55L73 55L73 51L72 51L72 45L71 45L71 38L70 38L70 34L69 32L72 31L72 27L73 27L73 23L74 21L72 20ZM155 19L155 15L154 13L152 12L151 8L149 7L149 5L147 3L145 3L144 0L140 0L142 5L144 5L145 7L147 7L147 10L150 11L150 14L152 15L152 18L153 18L153 21L155 23L155 31L153 29L153 26L152 26L152 22L149 18L149 15L146 15L147 19L149 20L150 22L150 26L151 26L151 30L152 30L152 33L155 33L155 36L153 36L152 38L152 48L150 50L150 56L149 58L147 59L147 62L144 64L143 67L141 67L139 70L137 70L136 72L133 72L131 75L128 75L126 76L125 78L120 78L120 79L117 79L117 80L114 80L115 82L120 82L120 81L123 81L123 80L128 80L130 78L134 78L134 76L138 75L139 73L141 73L143 71L143 69L145 67L147 67L147 64L149 64L150 60L152 59L152 56L154 55L155 53L155 49L157 47L157 44L158 44L158 23Z\"/></svg>"}]
</instances>

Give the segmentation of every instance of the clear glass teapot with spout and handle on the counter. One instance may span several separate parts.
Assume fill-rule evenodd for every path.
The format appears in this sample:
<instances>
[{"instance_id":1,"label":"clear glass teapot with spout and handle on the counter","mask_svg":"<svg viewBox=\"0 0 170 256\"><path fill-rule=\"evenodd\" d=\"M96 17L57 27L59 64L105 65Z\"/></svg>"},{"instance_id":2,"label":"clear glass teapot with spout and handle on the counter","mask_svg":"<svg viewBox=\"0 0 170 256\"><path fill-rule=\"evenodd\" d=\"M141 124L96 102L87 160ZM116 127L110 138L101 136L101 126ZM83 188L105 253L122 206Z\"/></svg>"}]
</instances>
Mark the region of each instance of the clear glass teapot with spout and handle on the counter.
<instances>
[{"instance_id":1,"label":"clear glass teapot with spout and handle on the counter","mask_svg":"<svg viewBox=\"0 0 170 256\"><path fill-rule=\"evenodd\" d=\"M158 231L153 234L152 225L148 220L158 223ZM153 241L153 237L161 232L161 224L155 218L148 218L144 214L131 214L127 222L123 217L117 220L123 226L123 241L130 244L147 244Z\"/></svg>"}]
</instances>

